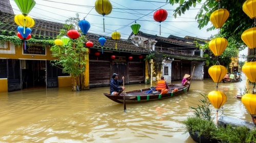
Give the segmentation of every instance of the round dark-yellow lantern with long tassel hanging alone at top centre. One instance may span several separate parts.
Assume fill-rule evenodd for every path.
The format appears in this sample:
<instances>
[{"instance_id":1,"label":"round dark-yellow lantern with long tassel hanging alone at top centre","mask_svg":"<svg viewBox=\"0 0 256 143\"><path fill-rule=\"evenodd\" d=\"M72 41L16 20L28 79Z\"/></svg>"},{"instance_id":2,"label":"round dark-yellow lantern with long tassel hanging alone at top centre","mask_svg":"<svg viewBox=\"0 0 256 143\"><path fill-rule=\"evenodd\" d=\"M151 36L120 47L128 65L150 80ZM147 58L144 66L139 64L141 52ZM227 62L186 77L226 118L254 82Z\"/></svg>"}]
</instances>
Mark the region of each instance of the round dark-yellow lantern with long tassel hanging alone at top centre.
<instances>
[{"instance_id":1,"label":"round dark-yellow lantern with long tassel hanging alone at top centre","mask_svg":"<svg viewBox=\"0 0 256 143\"><path fill-rule=\"evenodd\" d=\"M112 4L109 0L97 0L95 2L95 10L103 15L103 31L105 32L104 16L109 15L112 11Z\"/></svg>"}]
</instances>

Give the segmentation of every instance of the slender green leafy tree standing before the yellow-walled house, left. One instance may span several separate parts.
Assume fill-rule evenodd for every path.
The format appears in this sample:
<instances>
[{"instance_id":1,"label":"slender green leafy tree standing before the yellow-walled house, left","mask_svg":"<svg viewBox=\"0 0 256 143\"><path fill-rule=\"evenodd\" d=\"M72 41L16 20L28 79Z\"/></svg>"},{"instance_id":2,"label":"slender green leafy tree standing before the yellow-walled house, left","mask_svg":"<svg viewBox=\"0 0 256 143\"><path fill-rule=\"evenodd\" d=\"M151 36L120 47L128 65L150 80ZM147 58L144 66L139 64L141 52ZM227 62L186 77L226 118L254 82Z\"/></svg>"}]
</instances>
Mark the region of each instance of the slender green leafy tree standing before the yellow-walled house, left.
<instances>
[{"instance_id":1,"label":"slender green leafy tree standing before the yellow-walled house, left","mask_svg":"<svg viewBox=\"0 0 256 143\"><path fill-rule=\"evenodd\" d=\"M67 19L57 39L66 36L69 30L74 30L78 22L78 14L76 14L75 18L71 17ZM79 33L81 33L80 30ZM78 39L70 40L66 46L54 45L51 47L51 51L53 52L52 56L58 58L57 60L53 60L52 64L61 68L63 73L69 73L71 75L72 91L87 89L87 87L84 86L83 76L87 64L86 56L84 55L88 54L87 48L84 47L86 41L86 36L81 35Z\"/></svg>"}]
</instances>

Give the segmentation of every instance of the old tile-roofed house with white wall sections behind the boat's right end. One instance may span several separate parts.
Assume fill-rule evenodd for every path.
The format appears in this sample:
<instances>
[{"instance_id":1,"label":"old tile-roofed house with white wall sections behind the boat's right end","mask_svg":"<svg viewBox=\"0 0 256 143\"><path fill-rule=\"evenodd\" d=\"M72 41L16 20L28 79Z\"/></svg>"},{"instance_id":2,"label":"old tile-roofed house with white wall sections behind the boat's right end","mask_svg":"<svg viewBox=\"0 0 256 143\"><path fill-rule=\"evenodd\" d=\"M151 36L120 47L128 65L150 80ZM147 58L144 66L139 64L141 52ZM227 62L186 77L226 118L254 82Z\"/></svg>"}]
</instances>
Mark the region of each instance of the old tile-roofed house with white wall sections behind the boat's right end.
<instances>
[{"instance_id":1,"label":"old tile-roofed house with white wall sections behind the boat's right end","mask_svg":"<svg viewBox=\"0 0 256 143\"><path fill-rule=\"evenodd\" d=\"M137 36L132 33L129 39L136 44L146 43L146 48L155 54L154 71L158 72L153 72L153 83L161 76L164 76L168 83L172 80L182 80L185 74L193 72L194 67L193 79L203 80L205 59L191 37L188 39L170 35L165 38L139 32Z\"/></svg>"}]
</instances>

